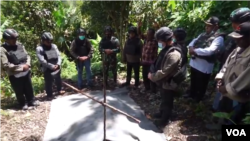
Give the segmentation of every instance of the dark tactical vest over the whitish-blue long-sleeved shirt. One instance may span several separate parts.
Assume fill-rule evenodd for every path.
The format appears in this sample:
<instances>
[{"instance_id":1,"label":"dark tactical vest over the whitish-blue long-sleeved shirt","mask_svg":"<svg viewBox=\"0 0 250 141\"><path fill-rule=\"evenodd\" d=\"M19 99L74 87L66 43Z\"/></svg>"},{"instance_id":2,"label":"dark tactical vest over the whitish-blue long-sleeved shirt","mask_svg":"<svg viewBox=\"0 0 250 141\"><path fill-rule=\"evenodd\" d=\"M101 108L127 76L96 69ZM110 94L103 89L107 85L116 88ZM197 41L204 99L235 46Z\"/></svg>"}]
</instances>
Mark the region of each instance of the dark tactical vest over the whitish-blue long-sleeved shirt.
<instances>
[{"instance_id":1,"label":"dark tactical vest over the whitish-blue long-sleeved shirt","mask_svg":"<svg viewBox=\"0 0 250 141\"><path fill-rule=\"evenodd\" d=\"M222 36L224 37L224 33L219 33L219 32L216 32L214 34L206 34L206 33L202 33L199 38L195 41L194 43L194 47L199 47L199 48L206 48L206 47L210 47L213 40L219 36ZM209 63L215 63L216 60L217 60L217 57L219 56L219 54L221 54L223 52L222 49L217 49L215 51L214 54L210 55L210 56L199 56L199 55L196 55L196 57L198 58L201 58L201 59L204 59L206 60L207 62Z\"/></svg>"}]
</instances>

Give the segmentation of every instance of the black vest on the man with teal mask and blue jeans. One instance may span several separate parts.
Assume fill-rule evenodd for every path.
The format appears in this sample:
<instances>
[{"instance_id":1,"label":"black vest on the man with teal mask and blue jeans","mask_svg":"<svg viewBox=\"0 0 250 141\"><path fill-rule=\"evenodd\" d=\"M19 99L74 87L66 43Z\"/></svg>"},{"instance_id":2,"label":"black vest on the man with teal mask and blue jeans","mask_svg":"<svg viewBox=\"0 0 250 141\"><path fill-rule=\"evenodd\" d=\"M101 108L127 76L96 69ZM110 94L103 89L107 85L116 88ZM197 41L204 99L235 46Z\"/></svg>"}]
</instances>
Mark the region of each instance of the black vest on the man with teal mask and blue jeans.
<instances>
[{"instance_id":1,"label":"black vest on the man with teal mask and blue jeans","mask_svg":"<svg viewBox=\"0 0 250 141\"><path fill-rule=\"evenodd\" d=\"M78 56L87 56L90 52L87 39L84 39L83 41L79 39L75 39L75 46L76 46L75 53Z\"/></svg>"}]
</instances>

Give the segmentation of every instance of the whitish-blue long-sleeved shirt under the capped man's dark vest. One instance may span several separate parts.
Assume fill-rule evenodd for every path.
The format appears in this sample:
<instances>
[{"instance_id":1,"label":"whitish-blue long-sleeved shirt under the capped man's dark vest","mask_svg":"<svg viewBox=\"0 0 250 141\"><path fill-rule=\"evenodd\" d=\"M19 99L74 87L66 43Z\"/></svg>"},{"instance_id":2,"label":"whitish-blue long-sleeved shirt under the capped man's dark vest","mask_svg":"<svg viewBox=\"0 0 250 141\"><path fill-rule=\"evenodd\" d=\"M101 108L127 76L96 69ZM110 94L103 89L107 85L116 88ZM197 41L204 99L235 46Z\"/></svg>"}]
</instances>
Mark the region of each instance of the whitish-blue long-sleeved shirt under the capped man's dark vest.
<instances>
[{"instance_id":1,"label":"whitish-blue long-sleeved shirt under the capped man's dark vest","mask_svg":"<svg viewBox=\"0 0 250 141\"><path fill-rule=\"evenodd\" d=\"M198 39L198 37L193 39L192 42L189 43L188 47L192 47L194 45L194 42L197 39ZM205 48L198 47L198 48L194 49L194 52L200 56L210 56L217 49L219 49L220 47L223 47L223 46L224 46L224 38L219 36L213 40L212 44L209 47L205 47ZM196 57L195 59L191 59L189 65L191 67L197 69L198 71L201 71L201 72L206 73L206 74L211 74L213 72L213 69L214 69L214 63L209 63L206 60L198 58L198 57Z\"/></svg>"}]
</instances>

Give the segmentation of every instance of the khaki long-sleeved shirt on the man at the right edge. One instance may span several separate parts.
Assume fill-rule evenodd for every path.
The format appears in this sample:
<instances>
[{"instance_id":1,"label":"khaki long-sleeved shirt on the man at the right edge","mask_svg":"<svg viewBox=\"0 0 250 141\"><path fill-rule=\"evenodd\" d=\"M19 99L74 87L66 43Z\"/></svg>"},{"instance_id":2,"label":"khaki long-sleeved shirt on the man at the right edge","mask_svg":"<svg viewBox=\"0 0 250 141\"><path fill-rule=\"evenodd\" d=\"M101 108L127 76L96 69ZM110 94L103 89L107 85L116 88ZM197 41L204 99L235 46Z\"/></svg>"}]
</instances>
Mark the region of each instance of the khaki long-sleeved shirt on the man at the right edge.
<instances>
[{"instance_id":1,"label":"khaki long-sleeved shirt on the man at the right edge","mask_svg":"<svg viewBox=\"0 0 250 141\"><path fill-rule=\"evenodd\" d=\"M226 87L224 95L239 102L250 101L249 56L250 47L236 48L216 75L216 79L221 79Z\"/></svg>"}]
</instances>

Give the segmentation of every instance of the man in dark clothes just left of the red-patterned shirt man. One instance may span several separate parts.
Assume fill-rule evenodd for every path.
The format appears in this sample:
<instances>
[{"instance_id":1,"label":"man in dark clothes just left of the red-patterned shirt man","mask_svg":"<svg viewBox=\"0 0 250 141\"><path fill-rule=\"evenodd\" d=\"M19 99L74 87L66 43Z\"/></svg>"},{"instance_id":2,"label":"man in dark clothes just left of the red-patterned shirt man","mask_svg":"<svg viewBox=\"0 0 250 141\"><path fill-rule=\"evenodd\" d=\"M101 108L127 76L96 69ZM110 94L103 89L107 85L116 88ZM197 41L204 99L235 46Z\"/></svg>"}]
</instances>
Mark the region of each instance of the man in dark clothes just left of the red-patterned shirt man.
<instances>
[{"instance_id":1,"label":"man in dark clothes just left of the red-patterned shirt man","mask_svg":"<svg viewBox=\"0 0 250 141\"><path fill-rule=\"evenodd\" d=\"M127 63L127 77L126 82L122 86L129 86L132 76L132 69L135 76L135 89L139 86L140 62L142 53L142 42L138 37L137 28L129 27L129 39L125 43L123 51L123 60Z\"/></svg>"}]
</instances>

